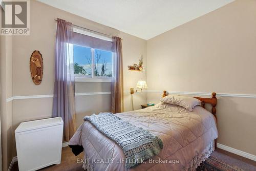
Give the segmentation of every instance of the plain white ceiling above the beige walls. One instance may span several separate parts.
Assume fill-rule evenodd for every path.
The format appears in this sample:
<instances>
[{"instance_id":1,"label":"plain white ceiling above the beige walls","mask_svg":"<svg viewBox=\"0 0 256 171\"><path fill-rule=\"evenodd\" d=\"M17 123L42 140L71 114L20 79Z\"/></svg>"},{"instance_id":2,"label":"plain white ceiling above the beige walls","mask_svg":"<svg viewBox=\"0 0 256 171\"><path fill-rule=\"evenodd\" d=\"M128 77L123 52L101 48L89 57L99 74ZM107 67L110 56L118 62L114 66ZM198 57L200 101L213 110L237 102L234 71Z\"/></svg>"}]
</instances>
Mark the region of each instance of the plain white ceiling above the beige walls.
<instances>
[{"instance_id":1,"label":"plain white ceiling above the beige walls","mask_svg":"<svg viewBox=\"0 0 256 171\"><path fill-rule=\"evenodd\" d=\"M38 1L147 40L234 0Z\"/></svg>"}]
</instances>

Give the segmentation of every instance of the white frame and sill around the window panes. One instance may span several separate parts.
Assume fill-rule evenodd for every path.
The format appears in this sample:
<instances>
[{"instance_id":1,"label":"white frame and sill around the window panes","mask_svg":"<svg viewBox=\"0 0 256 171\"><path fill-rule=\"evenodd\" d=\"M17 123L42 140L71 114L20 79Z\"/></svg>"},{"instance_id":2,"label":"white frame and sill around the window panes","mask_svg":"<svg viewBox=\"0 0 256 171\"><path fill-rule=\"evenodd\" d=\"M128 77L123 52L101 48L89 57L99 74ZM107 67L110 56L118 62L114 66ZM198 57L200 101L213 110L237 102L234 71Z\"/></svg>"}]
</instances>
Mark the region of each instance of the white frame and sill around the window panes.
<instances>
[{"instance_id":1,"label":"white frame and sill around the window panes","mask_svg":"<svg viewBox=\"0 0 256 171\"><path fill-rule=\"evenodd\" d=\"M112 39L109 38L109 37L105 37L105 36L102 36L102 35L91 33L91 32L82 30L82 29L77 28L77 27L73 27L73 32L84 34L84 35L87 35L87 36L100 38L100 39L107 40L107 41L112 41ZM76 44L74 44L74 45L76 45ZM81 45L77 45L77 46L81 46ZM83 46L81 46L81 47L83 47ZM87 48L90 48L90 47L87 47ZM95 49L94 48L90 48L90 49L91 49L91 53L92 53L92 75L89 76L89 75L82 75L82 74L74 74L75 82L112 82L112 77L114 76L114 65L115 65L115 63L114 63L114 52L112 52L112 77L95 76L94 75L94 71L95 71L95 63L94 63Z\"/></svg>"}]
</instances>

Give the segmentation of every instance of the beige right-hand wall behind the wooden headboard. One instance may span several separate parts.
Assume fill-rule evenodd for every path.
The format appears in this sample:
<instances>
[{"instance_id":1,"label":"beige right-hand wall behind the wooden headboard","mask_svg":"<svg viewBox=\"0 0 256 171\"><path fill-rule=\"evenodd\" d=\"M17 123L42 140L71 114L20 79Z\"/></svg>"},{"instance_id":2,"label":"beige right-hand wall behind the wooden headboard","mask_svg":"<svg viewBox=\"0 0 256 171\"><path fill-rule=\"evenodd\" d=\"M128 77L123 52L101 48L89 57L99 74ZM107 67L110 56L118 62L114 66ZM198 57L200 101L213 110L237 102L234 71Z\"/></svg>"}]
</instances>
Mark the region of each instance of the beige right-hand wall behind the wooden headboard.
<instances>
[{"instance_id":1,"label":"beige right-hand wall behind the wooden headboard","mask_svg":"<svg viewBox=\"0 0 256 171\"><path fill-rule=\"evenodd\" d=\"M256 1L238 0L148 40L148 89L255 95L255 16ZM218 142L256 155L256 99L218 100Z\"/></svg>"}]
</instances>

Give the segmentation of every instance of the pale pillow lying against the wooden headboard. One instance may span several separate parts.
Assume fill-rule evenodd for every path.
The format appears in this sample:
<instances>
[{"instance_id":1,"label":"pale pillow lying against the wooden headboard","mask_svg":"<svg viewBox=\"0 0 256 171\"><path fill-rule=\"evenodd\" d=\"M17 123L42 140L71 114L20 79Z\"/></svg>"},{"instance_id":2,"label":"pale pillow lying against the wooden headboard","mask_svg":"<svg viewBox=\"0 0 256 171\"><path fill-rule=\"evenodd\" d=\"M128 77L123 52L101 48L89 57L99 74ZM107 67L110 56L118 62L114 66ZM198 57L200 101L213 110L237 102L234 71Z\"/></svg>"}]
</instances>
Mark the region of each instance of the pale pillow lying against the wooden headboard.
<instances>
[{"instance_id":1,"label":"pale pillow lying against the wooden headboard","mask_svg":"<svg viewBox=\"0 0 256 171\"><path fill-rule=\"evenodd\" d=\"M188 111L192 111L196 105L200 105L201 101L194 97L180 96L180 95L168 95L161 99L163 103L175 104L182 106Z\"/></svg>"}]
</instances>

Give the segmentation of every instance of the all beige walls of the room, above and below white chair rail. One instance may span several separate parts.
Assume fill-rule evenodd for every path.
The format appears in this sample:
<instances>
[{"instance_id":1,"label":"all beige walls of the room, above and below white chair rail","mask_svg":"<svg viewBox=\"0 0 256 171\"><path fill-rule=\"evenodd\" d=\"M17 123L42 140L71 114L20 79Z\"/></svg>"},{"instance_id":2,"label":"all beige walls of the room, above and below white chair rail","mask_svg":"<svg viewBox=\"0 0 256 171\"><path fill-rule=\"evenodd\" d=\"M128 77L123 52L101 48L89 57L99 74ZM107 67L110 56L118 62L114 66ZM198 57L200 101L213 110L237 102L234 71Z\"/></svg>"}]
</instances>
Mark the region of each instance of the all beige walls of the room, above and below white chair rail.
<instances>
[{"instance_id":1,"label":"all beige walls of the room, above and below white chair rail","mask_svg":"<svg viewBox=\"0 0 256 171\"><path fill-rule=\"evenodd\" d=\"M135 87L139 79L147 80L149 90L256 94L256 79L253 79L256 73L255 1L233 2L148 41L36 1L30 2L30 36L12 36L8 40L1 36L4 168L16 155L13 132L17 125L51 117L52 98L20 99L8 103L6 98L53 94L54 18L57 17L123 39L125 111L132 110L132 96L127 91ZM3 49L7 49L5 53ZM39 86L32 82L29 70L28 61L34 50L39 50L44 58L44 76ZM141 54L147 72L127 70L128 65L138 62ZM75 88L76 93L109 92L110 83L76 82ZM135 93L134 109L149 101L158 102L160 97L161 93ZM256 115L250 108L256 104L256 99L219 97L218 100L219 143L256 155L253 132L256 130ZM83 116L109 110L109 94L76 96L77 126Z\"/></svg>"}]
</instances>

